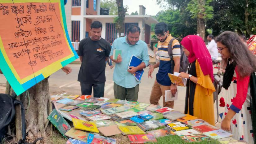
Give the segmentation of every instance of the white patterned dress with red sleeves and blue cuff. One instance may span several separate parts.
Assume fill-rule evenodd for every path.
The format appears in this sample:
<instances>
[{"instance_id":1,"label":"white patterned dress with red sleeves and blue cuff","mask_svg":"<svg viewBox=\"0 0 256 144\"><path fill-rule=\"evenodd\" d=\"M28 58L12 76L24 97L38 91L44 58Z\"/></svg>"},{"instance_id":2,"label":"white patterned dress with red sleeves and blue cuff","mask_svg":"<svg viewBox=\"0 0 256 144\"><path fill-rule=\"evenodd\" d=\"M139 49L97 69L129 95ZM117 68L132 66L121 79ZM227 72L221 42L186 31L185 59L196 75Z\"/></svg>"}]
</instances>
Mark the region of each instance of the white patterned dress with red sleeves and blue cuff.
<instances>
[{"instance_id":1,"label":"white patterned dress with red sleeves and blue cuff","mask_svg":"<svg viewBox=\"0 0 256 144\"><path fill-rule=\"evenodd\" d=\"M222 88L220 96L224 98L225 102L222 120L227 115L228 110L231 109L236 112L230 123L233 138L254 144L250 114L249 81L250 76L241 78L236 69L230 86L227 90Z\"/></svg>"}]
</instances>

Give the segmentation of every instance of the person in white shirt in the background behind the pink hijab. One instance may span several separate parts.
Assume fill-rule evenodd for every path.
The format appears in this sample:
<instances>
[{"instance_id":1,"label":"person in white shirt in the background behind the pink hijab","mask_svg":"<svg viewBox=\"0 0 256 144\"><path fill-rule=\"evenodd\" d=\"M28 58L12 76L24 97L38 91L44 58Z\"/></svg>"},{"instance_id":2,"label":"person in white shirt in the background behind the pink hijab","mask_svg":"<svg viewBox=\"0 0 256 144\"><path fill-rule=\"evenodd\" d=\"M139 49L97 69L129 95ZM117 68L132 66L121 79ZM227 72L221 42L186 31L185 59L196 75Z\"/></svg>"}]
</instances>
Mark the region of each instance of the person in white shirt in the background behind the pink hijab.
<instances>
[{"instance_id":1,"label":"person in white shirt in the background behind the pink hijab","mask_svg":"<svg viewBox=\"0 0 256 144\"><path fill-rule=\"evenodd\" d=\"M216 60L218 58L218 49L217 49L217 44L214 41L213 35L209 34L207 36L207 40L208 40L208 45L206 47L209 50L212 60Z\"/></svg>"}]
</instances>

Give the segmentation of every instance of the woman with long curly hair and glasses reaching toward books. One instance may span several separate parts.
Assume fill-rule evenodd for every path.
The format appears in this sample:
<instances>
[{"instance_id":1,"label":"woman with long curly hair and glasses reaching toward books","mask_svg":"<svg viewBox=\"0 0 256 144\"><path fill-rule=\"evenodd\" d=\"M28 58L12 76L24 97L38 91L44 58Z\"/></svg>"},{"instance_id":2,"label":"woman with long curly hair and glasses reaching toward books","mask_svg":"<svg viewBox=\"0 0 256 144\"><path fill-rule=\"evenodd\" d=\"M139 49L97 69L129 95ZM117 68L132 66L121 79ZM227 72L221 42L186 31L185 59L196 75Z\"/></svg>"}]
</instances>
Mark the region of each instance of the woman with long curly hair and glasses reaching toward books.
<instances>
[{"instance_id":1,"label":"woman with long curly hair and glasses reaching toward books","mask_svg":"<svg viewBox=\"0 0 256 144\"><path fill-rule=\"evenodd\" d=\"M221 128L231 130L233 138L244 140L254 144L255 128L252 126L252 118L255 117L255 106L250 107L251 100L255 99L255 79L252 74L256 71L256 59L248 50L247 45L238 34L230 31L223 32L216 38L218 50L222 55L222 62L225 67L223 85L219 94L225 110L222 116ZM252 82L252 83L251 83ZM249 85L250 83L250 85Z\"/></svg>"}]
</instances>

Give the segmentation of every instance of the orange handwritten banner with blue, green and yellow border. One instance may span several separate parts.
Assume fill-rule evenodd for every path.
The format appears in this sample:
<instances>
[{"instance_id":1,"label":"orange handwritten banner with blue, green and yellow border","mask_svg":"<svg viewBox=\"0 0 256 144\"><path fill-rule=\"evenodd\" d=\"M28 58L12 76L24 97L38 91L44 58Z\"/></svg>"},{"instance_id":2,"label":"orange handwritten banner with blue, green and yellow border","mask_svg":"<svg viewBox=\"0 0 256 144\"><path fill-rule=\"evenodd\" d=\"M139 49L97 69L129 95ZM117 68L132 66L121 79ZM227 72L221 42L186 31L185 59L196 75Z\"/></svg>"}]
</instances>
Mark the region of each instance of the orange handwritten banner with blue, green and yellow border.
<instances>
[{"instance_id":1,"label":"orange handwritten banner with blue, green and yellow border","mask_svg":"<svg viewBox=\"0 0 256 144\"><path fill-rule=\"evenodd\" d=\"M17 95L78 58L63 0L1 0L0 21L0 69Z\"/></svg>"}]
</instances>

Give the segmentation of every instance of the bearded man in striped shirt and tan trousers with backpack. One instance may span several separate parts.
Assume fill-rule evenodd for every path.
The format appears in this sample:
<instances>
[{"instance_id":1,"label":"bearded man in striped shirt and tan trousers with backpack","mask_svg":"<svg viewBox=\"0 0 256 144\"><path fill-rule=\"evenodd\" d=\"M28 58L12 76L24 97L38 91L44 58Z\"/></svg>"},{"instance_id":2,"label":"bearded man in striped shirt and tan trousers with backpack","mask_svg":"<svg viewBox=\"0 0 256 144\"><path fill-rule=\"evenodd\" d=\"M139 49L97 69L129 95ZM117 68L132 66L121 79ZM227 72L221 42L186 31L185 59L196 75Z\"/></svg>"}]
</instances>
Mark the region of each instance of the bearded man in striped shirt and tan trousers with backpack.
<instances>
[{"instance_id":1,"label":"bearded man in striped shirt and tan trousers with backpack","mask_svg":"<svg viewBox=\"0 0 256 144\"><path fill-rule=\"evenodd\" d=\"M174 72L179 72L180 68L180 57L181 57L181 50L180 50L180 43L178 40L173 40L172 43L172 51L173 51L173 59L171 59L170 55L168 54L168 44L173 38L168 31L168 25L164 22L160 22L155 25L155 34L158 38L158 46L157 50L159 52L159 62L150 66L150 70L148 72L148 77L151 77L151 74L154 71L154 68L158 68L158 73L156 74L156 80L151 90L150 95L150 103L159 105L159 99L163 96L163 106L173 108L174 101L165 102L165 90L171 90L172 94L176 94L177 86L171 82L170 78L168 77L168 73L173 73L171 70L171 60L174 61Z\"/></svg>"}]
</instances>

